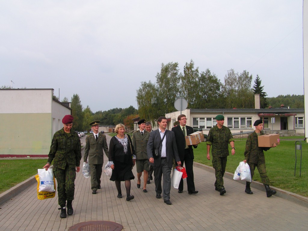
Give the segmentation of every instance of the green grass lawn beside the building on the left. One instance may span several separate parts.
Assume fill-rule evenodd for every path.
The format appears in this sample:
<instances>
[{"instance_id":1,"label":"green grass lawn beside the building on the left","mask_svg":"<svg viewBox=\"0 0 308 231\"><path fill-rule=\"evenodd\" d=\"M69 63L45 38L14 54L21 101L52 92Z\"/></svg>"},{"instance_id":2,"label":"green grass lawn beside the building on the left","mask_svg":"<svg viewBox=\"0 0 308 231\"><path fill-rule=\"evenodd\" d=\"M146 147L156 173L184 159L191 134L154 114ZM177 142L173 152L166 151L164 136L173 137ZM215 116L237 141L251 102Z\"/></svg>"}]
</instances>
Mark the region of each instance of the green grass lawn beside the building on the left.
<instances>
[{"instance_id":1,"label":"green grass lawn beside the building on the left","mask_svg":"<svg viewBox=\"0 0 308 231\"><path fill-rule=\"evenodd\" d=\"M34 176L38 173L38 168L43 168L46 163L47 158L0 160L0 193Z\"/></svg>"}]
</instances>

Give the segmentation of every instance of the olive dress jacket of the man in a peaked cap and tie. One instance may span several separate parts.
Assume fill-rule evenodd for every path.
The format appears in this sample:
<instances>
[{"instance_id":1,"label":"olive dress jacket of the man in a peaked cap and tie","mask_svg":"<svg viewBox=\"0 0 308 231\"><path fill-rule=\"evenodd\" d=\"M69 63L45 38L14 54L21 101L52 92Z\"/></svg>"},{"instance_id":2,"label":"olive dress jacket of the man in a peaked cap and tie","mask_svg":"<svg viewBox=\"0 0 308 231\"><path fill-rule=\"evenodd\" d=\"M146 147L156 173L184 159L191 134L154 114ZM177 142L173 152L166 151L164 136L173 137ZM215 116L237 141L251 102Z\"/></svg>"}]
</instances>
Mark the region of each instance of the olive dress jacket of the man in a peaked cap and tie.
<instances>
[{"instance_id":1,"label":"olive dress jacket of the man in a peaked cap and tie","mask_svg":"<svg viewBox=\"0 0 308 231\"><path fill-rule=\"evenodd\" d=\"M87 136L86 138L86 146L84 147L84 156L83 161L87 162L87 158L89 157L89 164L103 164L104 162L104 153L106 156L109 156L108 146L106 136L104 134L99 133L97 141L94 138L94 133Z\"/></svg>"}]
</instances>

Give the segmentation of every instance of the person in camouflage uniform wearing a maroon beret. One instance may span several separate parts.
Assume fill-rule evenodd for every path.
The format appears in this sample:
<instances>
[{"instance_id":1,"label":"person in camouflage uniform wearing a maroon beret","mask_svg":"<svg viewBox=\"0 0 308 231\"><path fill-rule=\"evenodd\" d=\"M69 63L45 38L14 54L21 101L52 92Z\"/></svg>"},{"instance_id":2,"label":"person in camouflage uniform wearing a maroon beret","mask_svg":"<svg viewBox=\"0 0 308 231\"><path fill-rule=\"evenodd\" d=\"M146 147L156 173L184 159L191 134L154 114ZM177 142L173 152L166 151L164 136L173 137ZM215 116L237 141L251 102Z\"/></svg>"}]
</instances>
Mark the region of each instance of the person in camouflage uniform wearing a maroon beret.
<instances>
[{"instance_id":1,"label":"person in camouflage uniform wearing a maroon beret","mask_svg":"<svg viewBox=\"0 0 308 231\"><path fill-rule=\"evenodd\" d=\"M74 117L65 115L62 119L63 128L51 141L46 170L54 161L53 172L58 183L58 202L61 208L60 218L66 218L67 214L73 214L72 201L75 193L76 172L80 171L81 144L76 132L71 131ZM67 202L67 203L66 203Z\"/></svg>"}]
</instances>

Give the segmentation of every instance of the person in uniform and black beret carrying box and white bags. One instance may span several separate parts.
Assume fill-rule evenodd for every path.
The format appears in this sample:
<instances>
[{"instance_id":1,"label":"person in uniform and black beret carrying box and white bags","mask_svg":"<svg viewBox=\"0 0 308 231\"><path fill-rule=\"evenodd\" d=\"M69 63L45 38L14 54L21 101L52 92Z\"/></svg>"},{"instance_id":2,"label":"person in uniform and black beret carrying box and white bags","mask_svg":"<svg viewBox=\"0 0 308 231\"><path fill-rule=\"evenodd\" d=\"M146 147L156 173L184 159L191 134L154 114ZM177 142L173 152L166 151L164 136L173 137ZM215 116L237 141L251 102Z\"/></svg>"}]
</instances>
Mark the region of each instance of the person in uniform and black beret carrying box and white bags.
<instances>
[{"instance_id":1,"label":"person in uniform and black beret carrying box and white bags","mask_svg":"<svg viewBox=\"0 0 308 231\"><path fill-rule=\"evenodd\" d=\"M249 134L249 136L247 137L244 152L245 160L243 161L249 165L251 179L253 178L254 170L257 167L262 183L265 186L266 196L271 197L272 195L276 194L276 191L270 189L270 179L266 174L265 156L263 152L269 150L270 148L259 147L258 145L258 136L264 135L264 133L262 132L263 121L256 120L253 126L255 126L256 130L253 133ZM276 147L276 144L274 144L274 147ZM246 181L245 193L253 194L250 189L250 182L248 181Z\"/></svg>"}]
</instances>

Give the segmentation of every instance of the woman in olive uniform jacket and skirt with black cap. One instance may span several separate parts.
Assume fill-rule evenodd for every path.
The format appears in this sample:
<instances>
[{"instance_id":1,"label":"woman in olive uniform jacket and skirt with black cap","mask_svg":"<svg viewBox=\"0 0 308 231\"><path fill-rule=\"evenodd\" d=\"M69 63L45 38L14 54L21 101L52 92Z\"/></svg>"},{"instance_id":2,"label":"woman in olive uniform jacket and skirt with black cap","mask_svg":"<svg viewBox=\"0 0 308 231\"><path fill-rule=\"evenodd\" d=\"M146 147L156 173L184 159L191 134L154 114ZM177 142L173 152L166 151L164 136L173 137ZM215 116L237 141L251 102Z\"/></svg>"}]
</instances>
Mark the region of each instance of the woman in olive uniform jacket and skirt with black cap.
<instances>
[{"instance_id":1,"label":"woman in olive uniform jacket and skirt with black cap","mask_svg":"<svg viewBox=\"0 0 308 231\"><path fill-rule=\"evenodd\" d=\"M144 119L138 121L139 130L133 133L132 144L136 151L136 168L137 168L137 188L140 188L141 176L143 172L143 192L147 193L148 171L150 170L150 162L148 161L147 144L150 132L145 130Z\"/></svg>"}]
</instances>

